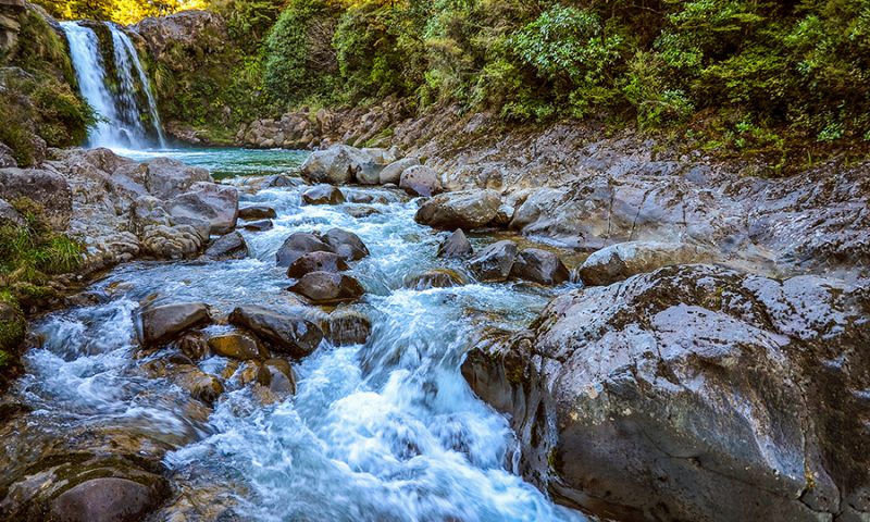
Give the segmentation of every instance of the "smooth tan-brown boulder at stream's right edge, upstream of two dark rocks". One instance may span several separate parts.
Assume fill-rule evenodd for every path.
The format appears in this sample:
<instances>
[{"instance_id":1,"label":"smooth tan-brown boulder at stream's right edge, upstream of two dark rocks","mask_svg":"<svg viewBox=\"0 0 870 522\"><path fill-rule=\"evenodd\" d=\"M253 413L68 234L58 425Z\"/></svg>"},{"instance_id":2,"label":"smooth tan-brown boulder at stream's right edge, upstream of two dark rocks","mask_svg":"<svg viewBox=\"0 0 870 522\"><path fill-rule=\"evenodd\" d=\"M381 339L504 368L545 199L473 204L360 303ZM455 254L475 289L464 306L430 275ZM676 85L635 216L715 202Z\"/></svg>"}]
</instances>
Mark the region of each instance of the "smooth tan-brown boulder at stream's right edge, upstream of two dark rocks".
<instances>
[{"instance_id":1,"label":"smooth tan-brown boulder at stream's right edge, upstream of two dark rocks","mask_svg":"<svg viewBox=\"0 0 870 522\"><path fill-rule=\"evenodd\" d=\"M480 228L496 217L499 204L495 190L442 194L424 202L414 220L435 228Z\"/></svg>"}]
</instances>

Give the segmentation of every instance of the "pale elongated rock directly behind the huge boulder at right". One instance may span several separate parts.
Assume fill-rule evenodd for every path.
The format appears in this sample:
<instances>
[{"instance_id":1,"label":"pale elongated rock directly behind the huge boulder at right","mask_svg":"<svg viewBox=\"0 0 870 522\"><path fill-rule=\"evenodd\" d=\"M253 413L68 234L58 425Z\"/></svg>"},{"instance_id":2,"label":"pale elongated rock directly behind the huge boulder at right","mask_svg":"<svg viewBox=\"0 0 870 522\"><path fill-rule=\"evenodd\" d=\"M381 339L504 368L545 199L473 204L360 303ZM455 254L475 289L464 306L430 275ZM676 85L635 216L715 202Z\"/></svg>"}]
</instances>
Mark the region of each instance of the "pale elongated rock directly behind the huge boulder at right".
<instances>
[{"instance_id":1,"label":"pale elongated rock directly behind the huge boulder at right","mask_svg":"<svg viewBox=\"0 0 870 522\"><path fill-rule=\"evenodd\" d=\"M580 276L587 285L609 285L662 266L698 263L711 257L709 250L682 243L620 243L589 256L580 268Z\"/></svg>"}]
</instances>

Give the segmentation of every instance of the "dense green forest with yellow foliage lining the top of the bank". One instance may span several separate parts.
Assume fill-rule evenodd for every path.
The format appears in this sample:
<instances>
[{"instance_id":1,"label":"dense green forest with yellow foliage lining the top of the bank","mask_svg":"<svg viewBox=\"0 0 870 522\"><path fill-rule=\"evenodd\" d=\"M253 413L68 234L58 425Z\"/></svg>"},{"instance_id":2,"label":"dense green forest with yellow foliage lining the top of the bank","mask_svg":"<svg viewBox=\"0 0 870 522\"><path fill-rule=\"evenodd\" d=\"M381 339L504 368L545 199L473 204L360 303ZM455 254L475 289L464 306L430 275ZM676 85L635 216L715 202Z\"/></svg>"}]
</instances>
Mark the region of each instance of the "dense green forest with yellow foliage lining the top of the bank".
<instances>
[{"instance_id":1,"label":"dense green forest with yellow foliage lining the top of the bank","mask_svg":"<svg viewBox=\"0 0 870 522\"><path fill-rule=\"evenodd\" d=\"M507 123L635 125L719 156L763 157L773 173L862 156L870 142L868 0L38 3L122 24L185 9L222 15L228 40L171 48L152 64L165 117L215 139L301 107L396 97Z\"/></svg>"}]
</instances>

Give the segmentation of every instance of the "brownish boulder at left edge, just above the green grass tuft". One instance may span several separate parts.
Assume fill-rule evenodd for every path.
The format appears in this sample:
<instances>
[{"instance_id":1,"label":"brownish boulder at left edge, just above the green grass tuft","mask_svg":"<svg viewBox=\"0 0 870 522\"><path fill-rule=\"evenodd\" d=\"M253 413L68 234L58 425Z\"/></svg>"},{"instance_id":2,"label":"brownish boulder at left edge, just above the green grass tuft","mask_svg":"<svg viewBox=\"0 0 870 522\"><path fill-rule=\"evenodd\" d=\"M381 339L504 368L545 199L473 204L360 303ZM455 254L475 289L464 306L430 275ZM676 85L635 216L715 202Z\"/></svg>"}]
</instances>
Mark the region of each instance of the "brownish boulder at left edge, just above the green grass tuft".
<instances>
[{"instance_id":1,"label":"brownish boulder at left edge, just above the green grass tuft","mask_svg":"<svg viewBox=\"0 0 870 522\"><path fill-rule=\"evenodd\" d=\"M38 203L53 229L62 232L70 226L73 194L62 175L39 169L0 169L0 199L21 198Z\"/></svg>"}]
</instances>

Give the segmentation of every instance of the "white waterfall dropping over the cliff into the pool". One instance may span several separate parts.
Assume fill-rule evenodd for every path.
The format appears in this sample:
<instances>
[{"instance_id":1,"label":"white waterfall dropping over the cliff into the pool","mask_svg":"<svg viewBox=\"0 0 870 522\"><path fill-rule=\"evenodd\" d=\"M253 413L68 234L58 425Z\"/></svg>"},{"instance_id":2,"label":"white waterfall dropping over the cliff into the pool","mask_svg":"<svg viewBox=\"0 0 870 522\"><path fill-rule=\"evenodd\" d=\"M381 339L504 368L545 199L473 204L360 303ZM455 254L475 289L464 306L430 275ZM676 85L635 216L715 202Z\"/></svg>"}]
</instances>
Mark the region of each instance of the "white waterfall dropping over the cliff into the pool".
<instances>
[{"instance_id":1,"label":"white waterfall dropping over the cliff into the pool","mask_svg":"<svg viewBox=\"0 0 870 522\"><path fill-rule=\"evenodd\" d=\"M165 148L157 103L136 48L124 32L113 24L105 25L112 35L113 69L107 69L94 29L77 22L61 23L70 44L78 88L99 116L88 134L88 145L132 149L159 145ZM114 77L110 78L108 71L114 73ZM144 114L152 124L151 133L142 124Z\"/></svg>"}]
</instances>

